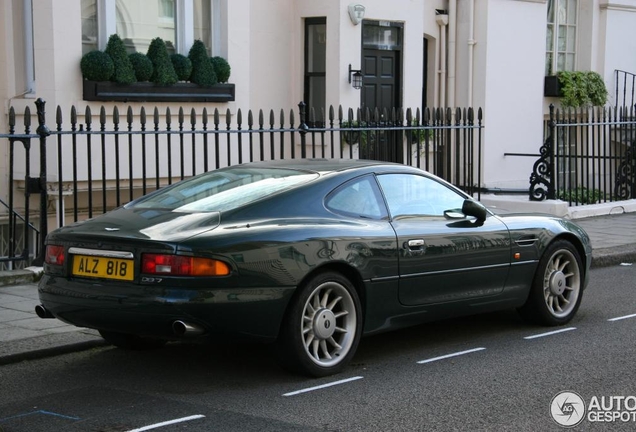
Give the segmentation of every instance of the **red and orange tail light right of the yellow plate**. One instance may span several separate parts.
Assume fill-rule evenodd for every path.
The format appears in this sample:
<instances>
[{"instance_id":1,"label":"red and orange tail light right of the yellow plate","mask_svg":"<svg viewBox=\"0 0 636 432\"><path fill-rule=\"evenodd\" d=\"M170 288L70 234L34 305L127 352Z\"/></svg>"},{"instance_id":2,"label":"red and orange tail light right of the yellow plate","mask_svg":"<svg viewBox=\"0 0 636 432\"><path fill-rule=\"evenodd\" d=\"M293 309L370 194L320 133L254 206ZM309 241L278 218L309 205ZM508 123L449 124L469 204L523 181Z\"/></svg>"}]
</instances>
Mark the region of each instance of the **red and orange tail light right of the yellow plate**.
<instances>
[{"instance_id":1,"label":"red and orange tail light right of the yellow plate","mask_svg":"<svg viewBox=\"0 0 636 432\"><path fill-rule=\"evenodd\" d=\"M143 254L141 272L170 276L227 276L230 266L211 258Z\"/></svg>"}]
</instances>

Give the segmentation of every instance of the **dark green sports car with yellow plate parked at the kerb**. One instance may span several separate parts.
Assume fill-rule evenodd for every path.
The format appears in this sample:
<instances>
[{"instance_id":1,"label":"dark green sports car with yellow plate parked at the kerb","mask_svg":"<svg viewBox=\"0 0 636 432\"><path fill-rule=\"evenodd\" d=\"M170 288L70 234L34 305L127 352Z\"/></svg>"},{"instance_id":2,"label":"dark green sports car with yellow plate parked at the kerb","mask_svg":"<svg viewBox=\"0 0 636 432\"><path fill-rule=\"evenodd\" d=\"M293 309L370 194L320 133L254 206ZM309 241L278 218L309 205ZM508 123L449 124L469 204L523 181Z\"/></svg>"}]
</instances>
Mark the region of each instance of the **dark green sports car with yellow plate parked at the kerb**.
<instances>
[{"instance_id":1,"label":"dark green sports car with yellow plate parked at the kerb","mask_svg":"<svg viewBox=\"0 0 636 432\"><path fill-rule=\"evenodd\" d=\"M363 335L516 308L572 319L591 246L571 221L495 215L417 168L293 160L222 168L46 239L43 318L122 348L220 337L337 373Z\"/></svg>"}]
</instances>

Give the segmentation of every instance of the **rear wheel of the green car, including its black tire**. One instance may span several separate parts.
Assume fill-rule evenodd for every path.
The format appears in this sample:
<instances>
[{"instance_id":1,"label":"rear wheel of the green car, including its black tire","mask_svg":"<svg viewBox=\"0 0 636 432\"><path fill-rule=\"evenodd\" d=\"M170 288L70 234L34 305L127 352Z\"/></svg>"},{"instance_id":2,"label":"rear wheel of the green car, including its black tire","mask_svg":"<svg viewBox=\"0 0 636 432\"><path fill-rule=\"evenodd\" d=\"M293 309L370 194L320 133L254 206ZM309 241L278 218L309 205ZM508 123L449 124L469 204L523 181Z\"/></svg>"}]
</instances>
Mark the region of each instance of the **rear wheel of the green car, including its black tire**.
<instances>
[{"instance_id":1,"label":"rear wheel of the green car, including its black tire","mask_svg":"<svg viewBox=\"0 0 636 432\"><path fill-rule=\"evenodd\" d=\"M351 361L361 334L362 308L351 282L339 273L320 273L292 298L277 354L295 372L333 375Z\"/></svg>"}]
</instances>

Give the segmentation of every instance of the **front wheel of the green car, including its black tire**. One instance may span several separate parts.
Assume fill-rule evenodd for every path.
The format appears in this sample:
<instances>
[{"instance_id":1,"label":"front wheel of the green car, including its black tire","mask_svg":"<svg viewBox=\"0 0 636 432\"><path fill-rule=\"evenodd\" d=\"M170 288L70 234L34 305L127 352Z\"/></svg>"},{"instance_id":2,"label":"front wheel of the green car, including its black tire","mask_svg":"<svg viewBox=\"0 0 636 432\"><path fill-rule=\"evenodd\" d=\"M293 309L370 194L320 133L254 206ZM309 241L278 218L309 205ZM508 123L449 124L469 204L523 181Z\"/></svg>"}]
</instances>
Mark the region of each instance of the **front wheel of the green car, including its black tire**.
<instances>
[{"instance_id":1,"label":"front wheel of the green car, including its black tire","mask_svg":"<svg viewBox=\"0 0 636 432\"><path fill-rule=\"evenodd\" d=\"M577 249L557 240L543 253L521 316L533 323L557 326L569 322L583 298L583 264Z\"/></svg>"}]
</instances>

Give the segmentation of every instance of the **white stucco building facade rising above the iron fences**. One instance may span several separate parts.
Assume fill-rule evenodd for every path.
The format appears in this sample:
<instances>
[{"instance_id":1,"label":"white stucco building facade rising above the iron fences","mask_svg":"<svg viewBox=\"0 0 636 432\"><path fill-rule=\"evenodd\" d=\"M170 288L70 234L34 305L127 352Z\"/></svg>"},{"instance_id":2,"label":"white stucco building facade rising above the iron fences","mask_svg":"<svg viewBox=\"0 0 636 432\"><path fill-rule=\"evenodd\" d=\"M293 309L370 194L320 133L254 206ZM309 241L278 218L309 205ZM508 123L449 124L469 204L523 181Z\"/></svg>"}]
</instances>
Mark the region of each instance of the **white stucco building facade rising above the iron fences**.
<instances>
[{"instance_id":1,"label":"white stucco building facade rising above the iron fences","mask_svg":"<svg viewBox=\"0 0 636 432\"><path fill-rule=\"evenodd\" d=\"M108 34L118 31L119 21L134 21L139 3L149 14L154 9L148 5L154 7L155 2L0 0L0 133L8 131L9 107L19 113L26 106L34 111L35 98L47 102L49 123L57 106L64 110L75 106L80 113L86 106L97 111L105 105L111 110L117 103L83 99L79 62L87 50L86 40L94 35L91 43L103 50ZM561 18L572 20L568 21L571 46L564 48L570 55L569 67L600 73L610 103L615 71L636 73L636 39L629 37L636 26L636 0L364 0L355 2L364 7L359 24L349 15L349 0L158 0L158 4L159 13L165 13L160 18L174 29L175 52L187 54L191 41L201 34L211 55L228 60L235 99L119 103L122 112L128 105L136 112L141 105L289 111L307 95L313 100L305 102L317 108L369 106L374 103L369 95L377 92L352 88L349 68L361 69L366 79L373 56L390 51L394 87L391 100L382 103L413 109L483 109L481 183L486 188L528 187L534 159L506 153L537 153L548 106L559 103L543 95L550 7L557 14L567 12ZM162 7L167 12L161 12ZM201 10L209 12L201 18ZM83 28L87 19L93 19L96 28ZM200 21L205 29L192 32ZM127 36L143 46L152 29L134 24L127 27ZM368 34L365 29L370 29ZM391 30L386 44L378 39L377 29ZM313 75L308 71L312 64L308 50L317 48L308 43L308 35L324 45L320 48L324 53L314 52L324 64ZM9 188L7 164L8 144L3 140L0 197Z\"/></svg>"}]
</instances>

